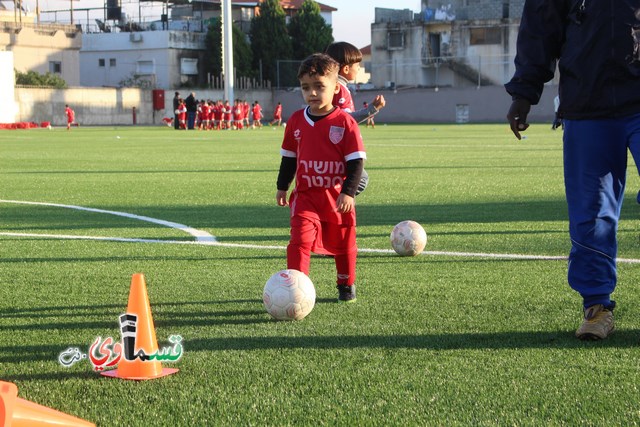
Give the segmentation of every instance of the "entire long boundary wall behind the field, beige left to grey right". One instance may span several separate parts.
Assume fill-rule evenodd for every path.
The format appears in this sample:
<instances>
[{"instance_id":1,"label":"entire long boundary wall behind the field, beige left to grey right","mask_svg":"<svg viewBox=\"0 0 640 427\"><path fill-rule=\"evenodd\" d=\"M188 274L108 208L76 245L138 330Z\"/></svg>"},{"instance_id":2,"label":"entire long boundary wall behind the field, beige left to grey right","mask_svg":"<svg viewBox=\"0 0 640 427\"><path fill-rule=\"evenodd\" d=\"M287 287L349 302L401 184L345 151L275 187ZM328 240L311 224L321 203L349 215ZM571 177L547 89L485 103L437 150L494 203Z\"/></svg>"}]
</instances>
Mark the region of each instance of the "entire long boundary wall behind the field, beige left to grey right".
<instances>
[{"instance_id":1,"label":"entire long boundary wall behind the field, beige left to grey right","mask_svg":"<svg viewBox=\"0 0 640 427\"><path fill-rule=\"evenodd\" d=\"M178 89L182 96L187 89ZM134 88L15 88L16 122L51 122L66 125L65 104L76 112L81 125L122 126L133 124L133 108L139 125L162 125L164 117L173 117L172 99L175 90L164 91L163 110L154 111L151 90ZM551 123L554 117L553 98L557 86L548 85L539 105L532 107L529 121ZM222 99L221 90L195 90L198 99ZM511 98L502 86L476 88L367 90L354 92L356 108L375 95L384 95L387 106L376 116L384 123L501 123L505 122ZM259 101L265 120L271 120L275 104L282 102L286 121L295 110L303 107L302 95L295 90L236 90L235 96L249 103Z\"/></svg>"}]
</instances>

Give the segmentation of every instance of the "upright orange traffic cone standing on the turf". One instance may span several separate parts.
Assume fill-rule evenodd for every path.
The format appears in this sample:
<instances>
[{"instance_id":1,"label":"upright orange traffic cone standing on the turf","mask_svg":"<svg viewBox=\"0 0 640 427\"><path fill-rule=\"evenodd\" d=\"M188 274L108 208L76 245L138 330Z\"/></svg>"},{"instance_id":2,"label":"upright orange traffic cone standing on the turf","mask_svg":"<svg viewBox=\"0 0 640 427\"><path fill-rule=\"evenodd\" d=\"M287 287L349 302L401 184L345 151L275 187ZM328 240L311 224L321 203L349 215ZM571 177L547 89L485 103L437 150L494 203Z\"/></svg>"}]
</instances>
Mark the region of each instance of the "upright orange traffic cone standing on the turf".
<instances>
[{"instance_id":1,"label":"upright orange traffic cone standing on the turf","mask_svg":"<svg viewBox=\"0 0 640 427\"><path fill-rule=\"evenodd\" d=\"M127 350L130 355L135 352L142 352L145 355L153 355L158 352L158 341L156 340L156 330L153 326L151 318L151 306L149 305L149 296L147 295L147 285L144 281L144 275L137 273L131 278L131 289L129 290L129 304L127 305L127 314L121 318L137 317L137 322L132 330L126 324L122 326L123 331L123 347L124 352ZM121 319L122 321L122 319ZM131 325L130 323L128 325ZM125 342L129 337L135 337L135 340L129 341L133 345L127 345ZM127 348L129 347L129 348ZM132 359L132 360L130 360ZM140 357L121 357L118 362L118 369L101 372L101 375L107 377L122 378L126 380L151 380L171 375L178 372L178 369L163 368L159 360L144 360Z\"/></svg>"}]
</instances>

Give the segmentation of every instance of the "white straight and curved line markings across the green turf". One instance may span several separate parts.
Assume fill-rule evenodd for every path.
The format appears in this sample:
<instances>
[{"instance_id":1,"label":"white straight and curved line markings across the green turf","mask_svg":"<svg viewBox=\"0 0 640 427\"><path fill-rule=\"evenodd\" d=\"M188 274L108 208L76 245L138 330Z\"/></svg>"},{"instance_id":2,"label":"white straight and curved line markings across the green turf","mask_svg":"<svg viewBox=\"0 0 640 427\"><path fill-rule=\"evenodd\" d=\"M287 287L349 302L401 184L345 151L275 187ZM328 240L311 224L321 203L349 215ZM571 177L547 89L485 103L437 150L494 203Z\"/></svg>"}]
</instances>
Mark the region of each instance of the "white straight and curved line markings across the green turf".
<instances>
[{"instance_id":1,"label":"white straight and curved line markings across the green turf","mask_svg":"<svg viewBox=\"0 0 640 427\"><path fill-rule=\"evenodd\" d=\"M286 250L286 246L275 245L252 245L245 243L221 243L216 240L214 236L206 231L198 230L188 227L183 224L178 224L170 221L163 221L146 216L133 215L126 212L107 211L102 209L85 208L82 206L74 205L61 205L57 203L41 203L41 202L22 202L16 200L1 200L0 203L17 203L25 205L44 205L44 206L56 206L69 209L77 209L89 212L106 213L111 215L123 216L132 219L139 219L141 221L152 222L155 224L165 225L171 228L177 228L191 234L196 238L195 241L188 240L161 240L161 239L137 239L126 237L103 237L103 236L73 236L65 234L37 234L37 233L11 233L0 232L0 236L12 236L12 237L36 237L46 239L67 239L67 240L97 240L97 241L111 241L111 242L127 242L127 243L165 243L174 245L202 245L202 246L220 246L227 248L240 248L240 249L272 249L272 250ZM361 253L379 253L379 254L394 254L392 249L364 249L359 248L358 252ZM499 253L484 253L484 252L450 252L450 251L423 251L422 255L431 256L452 256L452 257L464 257L464 258L491 258L491 259L514 259L514 260L533 260L533 261L566 261L565 256L555 255L526 255L526 254L499 254ZM640 259L633 258L618 258L618 263L621 264L640 264Z\"/></svg>"}]
</instances>

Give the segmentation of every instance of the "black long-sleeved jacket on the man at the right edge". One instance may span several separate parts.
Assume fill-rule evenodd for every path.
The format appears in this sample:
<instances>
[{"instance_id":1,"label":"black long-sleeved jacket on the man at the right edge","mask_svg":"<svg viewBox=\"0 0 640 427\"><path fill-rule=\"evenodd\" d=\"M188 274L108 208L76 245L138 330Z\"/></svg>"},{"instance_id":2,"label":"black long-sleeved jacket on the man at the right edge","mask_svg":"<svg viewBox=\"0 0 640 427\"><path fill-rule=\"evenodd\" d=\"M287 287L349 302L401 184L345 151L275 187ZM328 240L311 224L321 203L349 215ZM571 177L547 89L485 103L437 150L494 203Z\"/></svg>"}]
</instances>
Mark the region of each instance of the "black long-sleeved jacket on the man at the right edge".
<instances>
[{"instance_id":1,"label":"black long-sleeved jacket on the man at the right edge","mask_svg":"<svg viewBox=\"0 0 640 427\"><path fill-rule=\"evenodd\" d=\"M526 0L507 92L537 104L557 61L562 117L640 113L640 0Z\"/></svg>"}]
</instances>

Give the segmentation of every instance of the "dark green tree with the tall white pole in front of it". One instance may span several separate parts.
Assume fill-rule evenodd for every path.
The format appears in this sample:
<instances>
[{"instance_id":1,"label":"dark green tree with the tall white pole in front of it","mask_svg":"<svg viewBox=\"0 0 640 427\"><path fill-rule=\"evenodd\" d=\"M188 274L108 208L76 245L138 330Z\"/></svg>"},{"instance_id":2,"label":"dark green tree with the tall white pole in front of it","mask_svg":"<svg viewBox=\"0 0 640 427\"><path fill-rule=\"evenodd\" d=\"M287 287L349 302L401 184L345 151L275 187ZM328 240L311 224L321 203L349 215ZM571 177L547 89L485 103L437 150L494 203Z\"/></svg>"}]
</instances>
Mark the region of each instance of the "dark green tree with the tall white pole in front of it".
<instances>
[{"instance_id":1,"label":"dark green tree with the tall white pole in front of it","mask_svg":"<svg viewBox=\"0 0 640 427\"><path fill-rule=\"evenodd\" d=\"M253 68L253 54L247 36L237 25L232 26L233 38L233 67L236 69L236 77L257 77ZM222 73L222 21L216 20L209 25L205 39L207 49L206 70L212 76Z\"/></svg>"}]
</instances>

